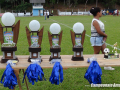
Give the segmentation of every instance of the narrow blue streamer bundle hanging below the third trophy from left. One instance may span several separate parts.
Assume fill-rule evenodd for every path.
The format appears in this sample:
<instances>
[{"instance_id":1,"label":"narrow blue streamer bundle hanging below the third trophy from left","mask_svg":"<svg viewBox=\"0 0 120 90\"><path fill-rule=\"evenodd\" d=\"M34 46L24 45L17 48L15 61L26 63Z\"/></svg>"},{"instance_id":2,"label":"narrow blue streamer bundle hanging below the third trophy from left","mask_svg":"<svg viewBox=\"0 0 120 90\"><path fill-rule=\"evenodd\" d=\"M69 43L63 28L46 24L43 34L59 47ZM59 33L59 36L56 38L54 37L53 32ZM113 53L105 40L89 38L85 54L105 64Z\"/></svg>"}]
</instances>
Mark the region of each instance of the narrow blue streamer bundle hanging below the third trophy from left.
<instances>
[{"instance_id":1,"label":"narrow blue streamer bundle hanging below the third trophy from left","mask_svg":"<svg viewBox=\"0 0 120 90\"><path fill-rule=\"evenodd\" d=\"M59 74L60 74L60 80L59 80ZM59 81L61 83L63 82L63 68L60 62L56 62L55 65L53 66L53 70L49 78L49 81L51 82L51 84L56 84L56 85L59 85Z\"/></svg>"}]
</instances>

